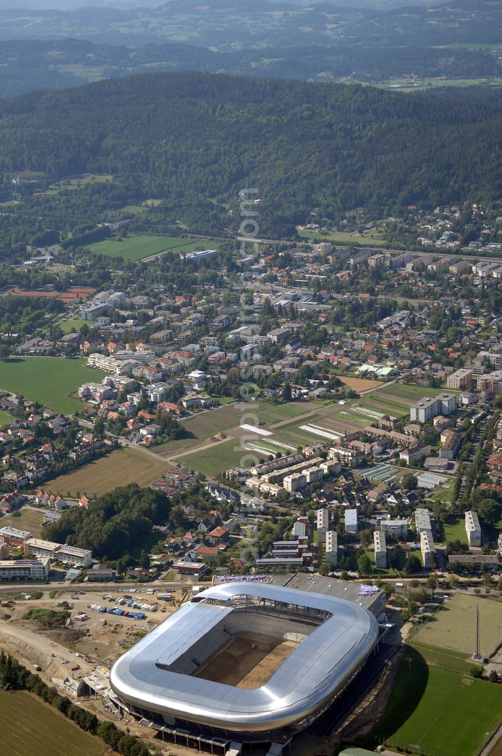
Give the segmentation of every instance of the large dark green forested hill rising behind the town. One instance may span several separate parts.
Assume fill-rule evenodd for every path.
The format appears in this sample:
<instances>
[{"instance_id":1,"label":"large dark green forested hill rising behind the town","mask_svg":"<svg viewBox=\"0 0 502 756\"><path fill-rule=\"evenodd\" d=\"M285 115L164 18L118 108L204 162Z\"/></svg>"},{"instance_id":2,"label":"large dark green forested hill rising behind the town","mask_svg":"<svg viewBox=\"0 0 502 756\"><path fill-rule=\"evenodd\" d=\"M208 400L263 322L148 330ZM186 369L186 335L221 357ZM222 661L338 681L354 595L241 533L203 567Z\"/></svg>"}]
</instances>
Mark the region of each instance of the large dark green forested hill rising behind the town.
<instances>
[{"instance_id":1,"label":"large dark green forested hill rising behind the town","mask_svg":"<svg viewBox=\"0 0 502 756\"><path fill-rule=\"evenodd\" d=\"M369 87L157 73L0 103L0 173L110 173L135 196L258 187L268 228L313 206L502 196L499 107Z\"/></svg>"}]
</instances>

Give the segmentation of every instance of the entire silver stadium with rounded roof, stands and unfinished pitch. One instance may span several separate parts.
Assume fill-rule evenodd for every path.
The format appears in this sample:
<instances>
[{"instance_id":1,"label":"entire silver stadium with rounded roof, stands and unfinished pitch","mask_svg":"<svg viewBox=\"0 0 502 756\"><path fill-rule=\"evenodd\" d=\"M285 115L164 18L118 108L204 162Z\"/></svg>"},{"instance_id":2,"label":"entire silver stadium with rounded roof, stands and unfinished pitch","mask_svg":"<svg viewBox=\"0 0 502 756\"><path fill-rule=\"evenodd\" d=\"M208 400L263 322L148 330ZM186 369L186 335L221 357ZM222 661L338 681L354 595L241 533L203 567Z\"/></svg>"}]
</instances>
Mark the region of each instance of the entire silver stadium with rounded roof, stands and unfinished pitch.
<instances>
[{"instance_id":1,"label":"entire silver stadium with rounded roof, stands and unfinished pitch","mask_svg":"<svg viewBox=\"0 0 502 756\"><path fill-rule=\"evenodd\" d=\"M125 711L162 734L234 741L236 752L243 742L286 745L346 688L378 633L358 603L257 581L219 584L120 656L110 686ZM253 636L288 643L288 655L266 671L258 655L253 685L241 685L228 648L241 644L249 660Z\"/></svg>"}]
</instances>

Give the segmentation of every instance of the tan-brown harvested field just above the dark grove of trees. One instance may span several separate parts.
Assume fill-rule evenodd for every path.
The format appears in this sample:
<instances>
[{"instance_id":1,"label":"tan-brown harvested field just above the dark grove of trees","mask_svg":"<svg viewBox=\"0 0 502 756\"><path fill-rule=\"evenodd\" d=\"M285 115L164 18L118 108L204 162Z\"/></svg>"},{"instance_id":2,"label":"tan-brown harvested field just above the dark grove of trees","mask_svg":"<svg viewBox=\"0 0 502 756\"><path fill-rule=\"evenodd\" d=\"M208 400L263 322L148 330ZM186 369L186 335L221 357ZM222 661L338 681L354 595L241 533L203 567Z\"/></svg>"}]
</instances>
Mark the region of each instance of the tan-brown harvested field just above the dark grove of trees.
<instances>
[{"instance_id":1,"label":"tan-brown harvested field just above the dark grove of trees","mask_svg":"<svg viewBox=\"0 0 502 756\"><path fill-rule=\"evenodd\" d=\"M67 495L67 491L70 491L72 497L77 497L77 494L101 496L119 485L150 485L150 482L163 476L168 467L167 462L156 460L142 451L117 449L79 469L67 472L66 475L45 482L44 488L54 494L59 491L62 496Z\"/></svg>"}]
</instances>

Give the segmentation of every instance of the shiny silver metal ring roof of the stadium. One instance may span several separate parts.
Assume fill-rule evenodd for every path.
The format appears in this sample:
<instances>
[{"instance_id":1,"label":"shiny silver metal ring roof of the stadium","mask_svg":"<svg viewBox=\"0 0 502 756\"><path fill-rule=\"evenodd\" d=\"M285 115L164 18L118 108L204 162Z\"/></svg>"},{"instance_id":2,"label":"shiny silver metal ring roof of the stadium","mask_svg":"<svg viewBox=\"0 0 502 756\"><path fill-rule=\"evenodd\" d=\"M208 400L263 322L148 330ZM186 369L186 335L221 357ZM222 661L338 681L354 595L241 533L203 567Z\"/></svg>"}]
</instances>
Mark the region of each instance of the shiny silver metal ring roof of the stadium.
<instances>
[{"instance_id":1,"label":"shiny silver metal ring roof of the stadium","mask_svg":"<svg viewBox=\"0 0 502 756\"><path fill-rule=\"evenodd\" d=\"M261 688L242 689L166 669L234 611L230 602L238 596L330 615ZM277 730L333 698L364 663L377 638L376 619L355 603L270 584L222 584L199 593L125 652L113 665L110 685L126 705L161 714L166 721L176 717L237 733Z\"/></svg>"}]
</instances>

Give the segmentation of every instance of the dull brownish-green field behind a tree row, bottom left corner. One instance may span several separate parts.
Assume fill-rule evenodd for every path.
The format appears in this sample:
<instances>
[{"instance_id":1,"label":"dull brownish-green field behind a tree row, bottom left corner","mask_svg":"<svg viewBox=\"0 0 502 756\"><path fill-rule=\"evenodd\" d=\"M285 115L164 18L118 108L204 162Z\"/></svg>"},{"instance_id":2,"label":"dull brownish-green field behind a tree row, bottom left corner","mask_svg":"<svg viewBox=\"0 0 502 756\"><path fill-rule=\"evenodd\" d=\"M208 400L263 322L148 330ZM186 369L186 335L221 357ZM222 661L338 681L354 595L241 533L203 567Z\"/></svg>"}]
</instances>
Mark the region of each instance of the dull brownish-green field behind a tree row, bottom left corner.
<instances>
[{"instance_id":1,"label":"dull brownish-green field behind a tree row, bottom left corner","mask_svg":"<svg viewBox=\"0 0 502 756\"><path fill-rule=\"evenodd\" d=\"M107 750L101 739L25 690L0 691L0 720L4 756L67 756L69 750L73 756L101 756Z\"/></svg>"}]
</instances>

